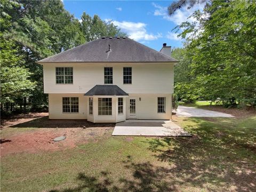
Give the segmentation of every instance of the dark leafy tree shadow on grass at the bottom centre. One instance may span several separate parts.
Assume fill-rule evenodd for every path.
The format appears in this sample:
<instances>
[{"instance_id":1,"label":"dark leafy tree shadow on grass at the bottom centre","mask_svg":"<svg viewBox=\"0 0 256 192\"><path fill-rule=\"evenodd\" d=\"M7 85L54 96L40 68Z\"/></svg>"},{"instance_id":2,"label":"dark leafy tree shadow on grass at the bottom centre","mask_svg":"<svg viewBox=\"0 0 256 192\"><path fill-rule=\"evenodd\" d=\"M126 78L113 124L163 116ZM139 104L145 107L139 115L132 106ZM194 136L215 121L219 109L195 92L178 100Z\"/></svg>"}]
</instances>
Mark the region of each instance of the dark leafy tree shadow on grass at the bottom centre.
<instances>
[{"instance_id":1,"label":"dark leafy tree shadow on grass at the bottom centre","mask_svg":"<svg viewBox=\"0 0 256 192\"><path fill-rule=\"evenodd\" d=\"M101 172L99 178L90 177L84 173L79 173L76 178L81 185L75 188L68 188L63 190L50 190L49 192L76 192L76 191L173 191L177 190L174 185L166 180L166 174L169 169L161 166L154 166L153 164L138 163L132 161L131 156L127 156L127 161L124 161L124 167L132 170L132 177L127 179L119 178L117 182L111 180L111 173ZM171 176L171 175L170 175Z\"/></svg>"}]
</instances>

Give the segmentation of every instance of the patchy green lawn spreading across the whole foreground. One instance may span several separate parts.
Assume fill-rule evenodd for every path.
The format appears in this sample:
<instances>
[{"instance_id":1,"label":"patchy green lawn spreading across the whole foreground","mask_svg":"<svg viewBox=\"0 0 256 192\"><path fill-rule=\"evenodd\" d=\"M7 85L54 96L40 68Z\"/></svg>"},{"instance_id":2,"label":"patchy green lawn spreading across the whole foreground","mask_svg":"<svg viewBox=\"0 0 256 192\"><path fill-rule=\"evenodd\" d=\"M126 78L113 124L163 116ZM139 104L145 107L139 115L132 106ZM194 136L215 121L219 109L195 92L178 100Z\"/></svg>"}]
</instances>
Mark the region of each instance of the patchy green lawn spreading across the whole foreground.
<instances>
[{"instance_id":1,"label":"patchy green lawn spreading across the whole foreground","mask_svg":"<svg viewBox=\"0 0 256 192\"><path fill-rule=\"evenodd\" d=\"M256 116L174 120L194 136L110 130L73 149L1 157L1 191L255 190Z\"/></svg>"}]
</instances>

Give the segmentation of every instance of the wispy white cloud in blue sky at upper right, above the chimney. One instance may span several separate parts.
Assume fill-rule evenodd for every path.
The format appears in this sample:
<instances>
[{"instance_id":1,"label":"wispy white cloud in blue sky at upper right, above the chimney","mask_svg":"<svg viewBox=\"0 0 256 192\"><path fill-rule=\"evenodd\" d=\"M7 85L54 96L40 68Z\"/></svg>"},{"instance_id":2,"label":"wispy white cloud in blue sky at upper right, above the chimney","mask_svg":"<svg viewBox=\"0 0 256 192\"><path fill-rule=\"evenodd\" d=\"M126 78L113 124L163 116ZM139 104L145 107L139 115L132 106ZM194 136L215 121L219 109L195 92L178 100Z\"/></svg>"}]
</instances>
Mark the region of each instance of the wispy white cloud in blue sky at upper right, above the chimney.
<instances>
[{"instance_id":1,"label":"wispy white cloud in blue sky at upper right, above the chimney","mask_svg":"<svg viewBox=\"0 0 256 192\"><path fill-rule=\"evenodd\" d=\"M182 7L181 9L177 10L174 12L172 16L168 15L167 8L168 7L163 7L160 6L156 3L152 3L152 5L156 8L154 11L155 16L162 16L163 19L172 21L176 25L180 25L180 23L189 21L189 22L194 22L195 18L188 18L192 13L194 13L196 10L203 10L205 4L198 4L195 5L194 7L187 9L187 7Z\"/></svg>"}]
</instances>

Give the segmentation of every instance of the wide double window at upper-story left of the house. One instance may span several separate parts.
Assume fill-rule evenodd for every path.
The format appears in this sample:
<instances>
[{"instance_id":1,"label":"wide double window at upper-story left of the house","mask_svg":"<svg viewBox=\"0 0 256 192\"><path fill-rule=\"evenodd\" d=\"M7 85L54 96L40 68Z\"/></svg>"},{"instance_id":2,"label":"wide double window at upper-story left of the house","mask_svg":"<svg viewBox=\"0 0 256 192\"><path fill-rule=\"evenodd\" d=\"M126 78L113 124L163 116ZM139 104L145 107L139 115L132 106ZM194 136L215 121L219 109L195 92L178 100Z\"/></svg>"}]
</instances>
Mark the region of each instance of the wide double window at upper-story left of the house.
<instances>
[{"instance_id":1,"label":"wide double window at upper-story left of the house","mask_svg":"<svg viewBox=\"0 0 256 192\"><path fill-rule=\"evenodd\" d=\"M56 67L57 84L73 84L73 67Z\"/></svg>"}]
</instances>

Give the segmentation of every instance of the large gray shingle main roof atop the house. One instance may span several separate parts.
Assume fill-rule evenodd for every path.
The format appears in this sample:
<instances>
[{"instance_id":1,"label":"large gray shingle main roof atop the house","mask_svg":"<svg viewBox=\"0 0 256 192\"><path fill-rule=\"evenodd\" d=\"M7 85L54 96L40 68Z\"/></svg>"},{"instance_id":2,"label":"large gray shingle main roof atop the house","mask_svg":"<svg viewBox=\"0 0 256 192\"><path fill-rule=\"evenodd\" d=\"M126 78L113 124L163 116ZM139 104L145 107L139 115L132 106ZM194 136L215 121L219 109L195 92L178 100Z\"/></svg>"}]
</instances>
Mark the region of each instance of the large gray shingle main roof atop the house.
<instances>
[{"instance_id":1,"label":"large gray shingle main roof atop the house","mask_svg":"<svg viewBox=\"0 0 256 192\"><path fill-rule=\"evenodd\" d=\"M128 37L102 37L37 62L177 62L177 60Z\"/></svg>"}]
</instances>

